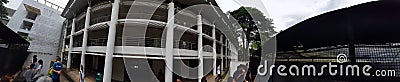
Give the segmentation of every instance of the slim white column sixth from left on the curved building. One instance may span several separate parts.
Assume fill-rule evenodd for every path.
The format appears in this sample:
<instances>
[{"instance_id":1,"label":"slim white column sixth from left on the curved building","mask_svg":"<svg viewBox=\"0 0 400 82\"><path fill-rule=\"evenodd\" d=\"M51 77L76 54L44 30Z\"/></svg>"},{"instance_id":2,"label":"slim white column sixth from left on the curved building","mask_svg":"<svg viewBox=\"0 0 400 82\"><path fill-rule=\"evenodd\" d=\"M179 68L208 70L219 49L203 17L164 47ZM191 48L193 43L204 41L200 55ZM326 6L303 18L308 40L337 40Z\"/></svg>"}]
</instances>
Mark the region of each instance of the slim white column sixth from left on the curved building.
<instances>
[{"instance_id":1,"label":"slim white column sixth from left on the curved building","mask_svg":"<svg viewBox=\"0 0 400 82\"><path fill-rule=\"evenodd\" d=\"M214 74L214 76L216 76L217 75L217 41L216 41L216 38L215 38L215 25L212 25L212 38L213 38L213 58L214 58L214 61L213 61L213 74Z\"/></svg>"}]
</instances>

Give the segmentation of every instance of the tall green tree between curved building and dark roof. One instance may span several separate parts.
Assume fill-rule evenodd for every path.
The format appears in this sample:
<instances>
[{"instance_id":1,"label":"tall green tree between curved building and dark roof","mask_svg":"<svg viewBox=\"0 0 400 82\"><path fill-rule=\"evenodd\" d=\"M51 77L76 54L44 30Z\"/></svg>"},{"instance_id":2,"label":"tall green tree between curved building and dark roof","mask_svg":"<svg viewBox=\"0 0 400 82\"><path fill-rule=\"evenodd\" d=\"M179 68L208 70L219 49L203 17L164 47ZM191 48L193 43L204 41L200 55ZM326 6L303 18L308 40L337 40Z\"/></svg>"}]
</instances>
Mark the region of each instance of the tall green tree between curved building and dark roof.
<instances>
[{"instance_id":1,"label":"tall green tree between curved building and dark roof","mask_svg":"<svg viewBox=\"0 0 400 82\"><path fill-rule=\"evenodd\" d=\"M250 55L259 56L262 46L261 39L269 39L277 32L274 30L272 19L266 18L264 14L252 7L240 7L237 10L229 12L240 24L246 36L246 45L248 46ZM253 17L258 17L253 19ZM266 32L259 32L259 28L266 29ZM265 33L265 34L260 34ZM265 40L266 41L266 40Z\"/></svg>"}]
</instances>

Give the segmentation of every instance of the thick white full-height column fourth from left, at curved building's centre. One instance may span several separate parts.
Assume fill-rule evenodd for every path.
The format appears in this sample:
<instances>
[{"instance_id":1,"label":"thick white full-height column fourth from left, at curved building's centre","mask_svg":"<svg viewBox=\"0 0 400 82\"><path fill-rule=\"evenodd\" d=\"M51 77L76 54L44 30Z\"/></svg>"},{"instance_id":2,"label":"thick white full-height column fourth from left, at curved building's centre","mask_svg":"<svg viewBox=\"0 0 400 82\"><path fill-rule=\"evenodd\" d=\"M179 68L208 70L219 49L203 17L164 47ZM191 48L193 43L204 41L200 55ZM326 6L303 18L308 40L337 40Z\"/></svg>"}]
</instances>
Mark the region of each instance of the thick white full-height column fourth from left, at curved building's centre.
<instances>
[{"instance_id":1,"label":"thick white full-height column fourth from left, at curved building's centre","mask_svg":"<svg viewBox=\"0 0 400 82\"><path fill-rule=\"evenodd\" d=\"M165 38L165 82L173 82L174 70L174 28L175 7L174 3L168 4L167 37Z\"/></svg>"}]
</instances>

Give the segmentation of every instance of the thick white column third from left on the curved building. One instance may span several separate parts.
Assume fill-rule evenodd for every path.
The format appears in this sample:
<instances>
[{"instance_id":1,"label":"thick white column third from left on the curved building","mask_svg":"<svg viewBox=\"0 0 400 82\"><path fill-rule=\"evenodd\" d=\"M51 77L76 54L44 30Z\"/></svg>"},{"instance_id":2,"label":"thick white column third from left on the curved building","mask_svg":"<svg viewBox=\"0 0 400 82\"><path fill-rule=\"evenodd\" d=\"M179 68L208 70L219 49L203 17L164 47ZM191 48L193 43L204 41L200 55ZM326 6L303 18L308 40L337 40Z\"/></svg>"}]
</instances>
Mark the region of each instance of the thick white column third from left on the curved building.
<instances>
[{"instance_id":1,"label":"thick white column third from left on the curved building","mask_svg":"<svg viewBox=\"0 0 400 82\"><path fill-rule=\"evenodd\" d=\"M112 75L112 62L114 55L114 47L115 47L115 35L117 32L117 20L119 14L119 4L120 0L114 0L112 4L111 10L111 20L108 23L108 39L107 39L107 48L106 48L106 60L104 65L104 82L111 82Z\"/></svg>"}]
</instances>

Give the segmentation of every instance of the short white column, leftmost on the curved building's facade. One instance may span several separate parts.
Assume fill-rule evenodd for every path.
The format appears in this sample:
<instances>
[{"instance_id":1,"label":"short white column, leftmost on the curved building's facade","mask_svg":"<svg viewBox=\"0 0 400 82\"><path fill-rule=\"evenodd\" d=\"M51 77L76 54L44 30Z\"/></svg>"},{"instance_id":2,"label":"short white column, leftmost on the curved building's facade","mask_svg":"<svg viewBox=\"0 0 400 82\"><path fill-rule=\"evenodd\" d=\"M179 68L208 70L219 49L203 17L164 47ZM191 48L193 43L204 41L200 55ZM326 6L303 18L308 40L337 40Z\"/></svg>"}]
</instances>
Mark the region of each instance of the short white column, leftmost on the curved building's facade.
<instances>
[{"instance_id":1,"label":"short white column, leftmost on the curved building's facade","mask_svg":"<svg viewBox=\"0 0 400 82\"><path fill-rule=\"evenodd\" d=\"M74 47L73 46L74 45L74 33L75 33L75 18L72 19L71 34L69 36L67 68L71 67L71 53L72 53L72 48Z\"/></svg>"}]
</instances>

